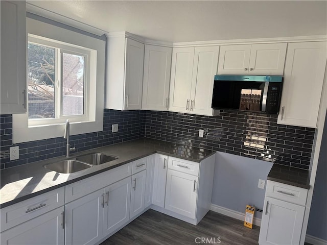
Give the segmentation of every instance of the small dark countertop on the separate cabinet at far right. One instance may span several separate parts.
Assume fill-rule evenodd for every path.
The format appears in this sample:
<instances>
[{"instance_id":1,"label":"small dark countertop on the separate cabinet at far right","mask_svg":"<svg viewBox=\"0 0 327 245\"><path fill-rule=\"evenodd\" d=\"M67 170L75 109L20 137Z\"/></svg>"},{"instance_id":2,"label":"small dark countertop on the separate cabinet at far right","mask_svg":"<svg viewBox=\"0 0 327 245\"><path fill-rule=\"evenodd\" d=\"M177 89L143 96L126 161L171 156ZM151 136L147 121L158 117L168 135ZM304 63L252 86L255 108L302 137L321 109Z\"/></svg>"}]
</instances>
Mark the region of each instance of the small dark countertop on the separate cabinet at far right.
<instances>
[{"instance_id":1,"label":"small dark countertop on the separate cabinet at far right","mask_svg":"<svg viewBox=\"0 0 327 245\"><path fill-rule=\"evenodd\" d=\"M310 173L305 169L273 164L267 179L310 189Z\"/></svg>"}]
</instances>

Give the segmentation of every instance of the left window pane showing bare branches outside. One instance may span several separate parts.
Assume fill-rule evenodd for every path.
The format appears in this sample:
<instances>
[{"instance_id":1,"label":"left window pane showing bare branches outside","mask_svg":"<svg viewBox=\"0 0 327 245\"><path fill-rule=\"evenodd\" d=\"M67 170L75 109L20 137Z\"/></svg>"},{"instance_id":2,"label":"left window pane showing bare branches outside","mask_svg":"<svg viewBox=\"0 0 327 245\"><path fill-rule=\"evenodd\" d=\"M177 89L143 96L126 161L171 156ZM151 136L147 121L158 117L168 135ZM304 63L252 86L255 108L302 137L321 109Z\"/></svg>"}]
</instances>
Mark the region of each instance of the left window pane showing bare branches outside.
<instances>
[{"instance_id":1,"label":"left window pane showing bare branches outside","mask_svg":"<svg viewBox=\"0 0 327 245\"><path fill-rule=\"evenodd\" d=\"M55 117L55 48L28 43L29 119Z\"/></svg>"}]
</instances>

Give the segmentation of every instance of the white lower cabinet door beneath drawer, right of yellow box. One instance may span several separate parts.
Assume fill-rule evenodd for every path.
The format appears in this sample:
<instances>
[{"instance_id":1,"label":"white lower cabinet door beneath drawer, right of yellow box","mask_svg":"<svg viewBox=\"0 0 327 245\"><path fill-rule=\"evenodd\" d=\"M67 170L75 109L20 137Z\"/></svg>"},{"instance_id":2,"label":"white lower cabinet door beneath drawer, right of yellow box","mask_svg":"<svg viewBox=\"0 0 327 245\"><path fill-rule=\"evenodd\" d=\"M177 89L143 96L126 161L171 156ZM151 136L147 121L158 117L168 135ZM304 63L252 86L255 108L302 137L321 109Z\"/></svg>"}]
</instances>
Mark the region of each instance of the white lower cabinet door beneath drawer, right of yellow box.
<instances>
[{"instance_id":1,"label":"white lower cabinet door beneath drawer, right of yellow box","mask_svg":"<svg viewBox=\"0 0 327 245\"><path fill-rule=\"evenodd\" d=\"M265 198L259 244L299 244L305 207Z\"/></svg>"}]
</instances>

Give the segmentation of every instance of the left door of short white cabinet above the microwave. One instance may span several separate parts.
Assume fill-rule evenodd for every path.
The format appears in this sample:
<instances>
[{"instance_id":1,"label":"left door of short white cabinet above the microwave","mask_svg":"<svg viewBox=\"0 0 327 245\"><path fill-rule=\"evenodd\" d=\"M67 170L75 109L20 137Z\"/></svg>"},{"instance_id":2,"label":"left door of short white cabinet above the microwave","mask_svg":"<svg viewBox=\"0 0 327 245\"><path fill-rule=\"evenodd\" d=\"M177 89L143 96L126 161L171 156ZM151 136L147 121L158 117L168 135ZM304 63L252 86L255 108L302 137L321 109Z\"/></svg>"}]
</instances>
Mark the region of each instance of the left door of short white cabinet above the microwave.
<instances>
[{"instance_id":1,"label":"left door of short white cabinet above the microwave","mask_svg":"<svg viewBox=\"0 0 327 245\"><path fill-rule=\"evenodd\" d=\"M218 74L247 75L251 45L222 45L220 47Z\"/></svg>"}]
</instances>

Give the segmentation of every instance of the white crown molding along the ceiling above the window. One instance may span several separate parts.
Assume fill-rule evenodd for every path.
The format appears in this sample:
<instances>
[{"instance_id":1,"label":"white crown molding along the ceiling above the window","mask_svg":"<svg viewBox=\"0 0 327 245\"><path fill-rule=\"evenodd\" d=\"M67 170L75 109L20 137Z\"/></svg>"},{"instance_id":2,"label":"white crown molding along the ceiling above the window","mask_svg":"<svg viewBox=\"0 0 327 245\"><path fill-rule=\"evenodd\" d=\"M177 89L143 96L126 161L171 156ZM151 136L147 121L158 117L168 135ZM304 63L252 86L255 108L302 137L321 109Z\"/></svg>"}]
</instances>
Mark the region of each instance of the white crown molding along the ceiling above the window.
<instances>
[{"instance_id":1,"label":"white crown molding along the ceiling above the window","mask_svg":"<svg viewBox=\"0 0 327 245\"><path fill-rule=\"evenodd\" d=\"M101 30L96 27L92 27L89 24L85 24L85 23L77 21L75 19L68 18L66 16L52 12L50 10L40 8L31 3L26 3L26 11L29 13L32 13L32 14L36 14L36 15L54 20L54 21L58 21L63 24L67 24L68 26L71 26L71 27L74 27L74 28L80 29L82 31L98 35L98 36L102 36L103 34L106 33L106 31L104 31L104 30Z\"/></svg>"}]
</instances>

